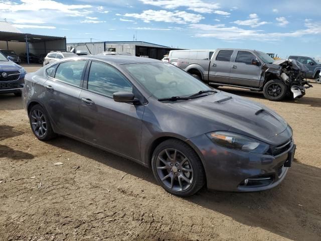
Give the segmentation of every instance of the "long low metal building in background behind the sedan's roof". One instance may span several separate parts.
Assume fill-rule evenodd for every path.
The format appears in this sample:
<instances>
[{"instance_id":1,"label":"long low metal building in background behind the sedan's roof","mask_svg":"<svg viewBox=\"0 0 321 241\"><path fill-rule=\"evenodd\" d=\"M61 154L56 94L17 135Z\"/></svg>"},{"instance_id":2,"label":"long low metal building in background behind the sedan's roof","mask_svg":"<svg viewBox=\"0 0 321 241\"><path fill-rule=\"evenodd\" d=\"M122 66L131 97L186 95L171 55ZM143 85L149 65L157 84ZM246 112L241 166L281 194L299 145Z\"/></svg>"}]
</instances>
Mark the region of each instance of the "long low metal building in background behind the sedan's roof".
<instances>
[{"instance_id":1,"label":"long low metal building in background behind the sedan's roof","mask_svg":"<svg viewBox=\"0 0 321 241\"><path fill-rule=\"evenodd\" d=\"M134 56L147 57L152 59L162 59L171 50L176 50L168 46L152 44L143 41L107 41L93 43L68 43L67 50L72 48L86 51L90 54L99 54L103 51L117 53L130 53Z\"/></svg>"}]
</instances>

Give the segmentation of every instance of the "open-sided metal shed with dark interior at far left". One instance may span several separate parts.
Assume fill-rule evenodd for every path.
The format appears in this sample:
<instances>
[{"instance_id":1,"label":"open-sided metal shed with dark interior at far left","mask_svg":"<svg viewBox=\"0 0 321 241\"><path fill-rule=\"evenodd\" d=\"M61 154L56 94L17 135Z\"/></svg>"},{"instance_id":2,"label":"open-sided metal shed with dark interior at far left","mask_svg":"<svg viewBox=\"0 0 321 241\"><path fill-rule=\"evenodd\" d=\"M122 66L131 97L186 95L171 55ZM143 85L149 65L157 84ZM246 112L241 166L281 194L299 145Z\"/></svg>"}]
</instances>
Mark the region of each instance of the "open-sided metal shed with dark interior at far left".
<instances>
[{"instance_id":1,"label":"open-sided metal shed with dark interior at far left","mask_svg":"<svg viewBox=\"0 0 321 241\"><path fill-rule=\"evenodd\" d=\"M46 55L50 51L66 51L66 38L22 33L8 22L0 21L0 49L14 50L17 55Z\"/></svg>"}]
</instances>

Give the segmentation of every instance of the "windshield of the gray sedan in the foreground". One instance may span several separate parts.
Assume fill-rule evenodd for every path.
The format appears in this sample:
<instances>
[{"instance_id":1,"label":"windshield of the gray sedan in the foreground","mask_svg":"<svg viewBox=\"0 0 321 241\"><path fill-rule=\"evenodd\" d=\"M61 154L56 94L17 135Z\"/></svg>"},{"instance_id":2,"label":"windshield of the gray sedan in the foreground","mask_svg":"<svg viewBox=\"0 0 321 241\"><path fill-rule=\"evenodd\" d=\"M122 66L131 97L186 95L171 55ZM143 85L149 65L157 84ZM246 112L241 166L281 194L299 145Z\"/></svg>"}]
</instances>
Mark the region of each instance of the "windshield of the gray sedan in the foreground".
<instances>
[{"instance_id":1,"label":"windshield of the gray sedan in the foreground","mask_svg":"<svg viewBox=\"0 0 321 241\"><path fill-rule=\"evenodd\" d=\"M139 63L123 66L157 99L190 96L201 90L211 90L200 80L169 63Z\"/></svg>"}]
</instances>

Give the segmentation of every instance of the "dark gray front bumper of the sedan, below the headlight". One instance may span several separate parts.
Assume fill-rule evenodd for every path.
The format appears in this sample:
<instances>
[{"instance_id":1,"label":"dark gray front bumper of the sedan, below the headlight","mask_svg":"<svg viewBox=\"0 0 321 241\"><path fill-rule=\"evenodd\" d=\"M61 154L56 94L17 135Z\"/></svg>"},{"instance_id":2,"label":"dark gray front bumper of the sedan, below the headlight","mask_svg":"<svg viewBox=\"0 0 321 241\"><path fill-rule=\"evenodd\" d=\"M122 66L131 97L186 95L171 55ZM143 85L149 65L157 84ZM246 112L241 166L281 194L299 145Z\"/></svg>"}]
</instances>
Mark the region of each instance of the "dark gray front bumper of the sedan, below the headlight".
<instances>
[{"instance_id":1,"label":"dark gray front bumper of the sedan, below the headlight","mask_svg":"<svg viewBox=\"0 0 321 241\"><path fill-rule=\"evenodd\" d=\"M212 190L253 192L277 186L285 178L289 148L277 156L242 152L215 145L206 135L188 140L199 153ZM250 181L249 181L250 180Z\"/></svg>"}]
</instances>

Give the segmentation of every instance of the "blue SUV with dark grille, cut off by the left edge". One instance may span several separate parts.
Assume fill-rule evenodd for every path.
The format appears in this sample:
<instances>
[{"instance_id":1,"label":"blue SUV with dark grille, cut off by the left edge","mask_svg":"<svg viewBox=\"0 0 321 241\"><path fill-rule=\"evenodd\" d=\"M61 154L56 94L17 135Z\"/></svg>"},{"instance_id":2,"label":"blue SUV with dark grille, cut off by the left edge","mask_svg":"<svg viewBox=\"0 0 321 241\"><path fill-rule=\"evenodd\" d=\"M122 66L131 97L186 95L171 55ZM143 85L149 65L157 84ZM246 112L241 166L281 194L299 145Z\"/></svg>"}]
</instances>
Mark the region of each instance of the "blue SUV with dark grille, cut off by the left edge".
<instances>
[{"instance_id":1,"label":"blue SUV with dark grille, cut off by the left edge","mask_svg":"<svg viewBox=\"0 0 321 241\"><path fill-rule=\"evenodd\" d=\"M26 70L12 60L13 57L7 58L0 53L0 94L14 93L16 96L21 96Z\"/></svg>"}]
</instances>

